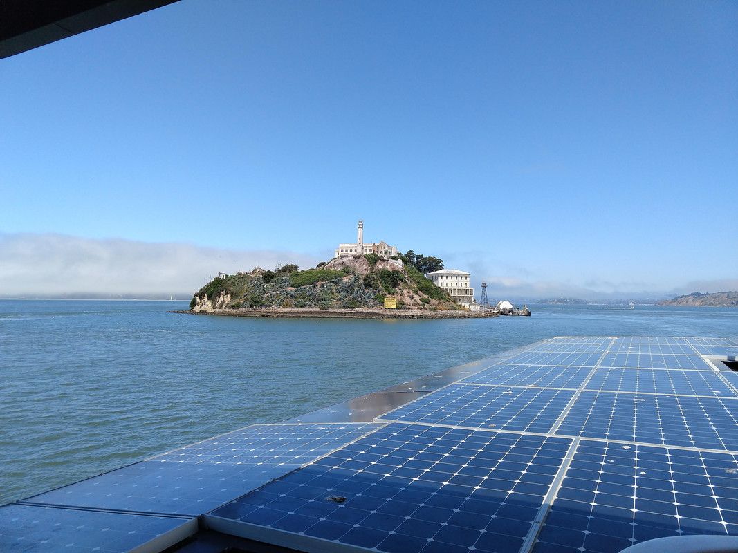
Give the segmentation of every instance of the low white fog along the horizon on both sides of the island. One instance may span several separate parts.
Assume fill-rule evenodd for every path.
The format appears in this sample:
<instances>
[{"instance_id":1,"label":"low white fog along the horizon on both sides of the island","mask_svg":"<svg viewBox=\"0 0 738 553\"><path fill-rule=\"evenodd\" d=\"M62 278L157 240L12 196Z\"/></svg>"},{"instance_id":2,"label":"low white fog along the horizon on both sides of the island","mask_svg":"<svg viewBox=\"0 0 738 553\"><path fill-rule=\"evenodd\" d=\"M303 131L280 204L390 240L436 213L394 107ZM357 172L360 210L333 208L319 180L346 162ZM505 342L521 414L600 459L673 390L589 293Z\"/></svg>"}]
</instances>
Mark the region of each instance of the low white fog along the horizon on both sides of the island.
<instances>
[{"instance_id":1,"label":"low white fog along the horizon on both sides of the island","mask_svg":"<svg viewBox=\"0 0 738 553\"><path fill-rule=\"evenodd\" d=\"M258 242L254 237L252 241ZM219 272L294 263L301 269L328 261L294 251L236 250L189 243L147 243L122 238L92 239L63 234L0 234L0 297L190 299ZM559 282L526 274L524 268L494 265L481 254L444 258L446 268L472 273L477 301L487 282L490 302L568 297L588 300L667 299L692 292L738 290L738 279L702 280L683 286L654 282ZM647 275L646 275L647 277Z\"/></svg>"}]
</instances>

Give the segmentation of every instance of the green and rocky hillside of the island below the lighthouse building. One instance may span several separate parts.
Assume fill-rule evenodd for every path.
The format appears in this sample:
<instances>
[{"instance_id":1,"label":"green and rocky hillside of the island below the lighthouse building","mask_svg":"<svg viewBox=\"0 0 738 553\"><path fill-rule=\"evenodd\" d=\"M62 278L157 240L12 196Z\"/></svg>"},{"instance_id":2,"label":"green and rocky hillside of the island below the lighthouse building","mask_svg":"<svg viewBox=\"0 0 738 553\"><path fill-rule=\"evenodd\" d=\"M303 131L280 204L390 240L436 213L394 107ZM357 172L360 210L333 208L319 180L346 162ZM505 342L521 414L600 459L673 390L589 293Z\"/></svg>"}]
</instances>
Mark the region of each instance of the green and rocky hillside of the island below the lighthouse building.
<instances>
[{"instance_id":1,"label":"green and rocky hillside of the island below the lighthouse building","mask_svg":"<svg viewBox=\"0 0 738 553\"><path fill-rule=\"evenodd\" d=\"M399 309L468 311L413 266L376 254L334 259L307 271L285 265L275 271L255 268L249 273L218 277L195 293L190 310L351 310L383 307L385 297L395 298Z\"/></svg>"}]
</instances>

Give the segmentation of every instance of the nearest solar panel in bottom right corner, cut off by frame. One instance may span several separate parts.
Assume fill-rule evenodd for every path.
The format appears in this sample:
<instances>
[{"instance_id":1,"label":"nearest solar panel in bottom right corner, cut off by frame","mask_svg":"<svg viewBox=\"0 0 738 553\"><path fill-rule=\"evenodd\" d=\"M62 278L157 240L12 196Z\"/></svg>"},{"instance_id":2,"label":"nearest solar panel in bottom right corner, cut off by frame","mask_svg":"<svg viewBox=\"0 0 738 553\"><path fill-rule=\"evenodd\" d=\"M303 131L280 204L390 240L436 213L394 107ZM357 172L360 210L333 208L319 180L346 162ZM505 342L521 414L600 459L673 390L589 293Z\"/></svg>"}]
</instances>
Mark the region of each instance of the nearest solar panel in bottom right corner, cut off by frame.
<instances>
[{"instance_id":1,"label":"nearest solar panel in bottom right corner, cut off by frame","mask_svg":"<svg viewBox=\"0 0 738 553\"><path fill-rule=\"evenodd\" d=\"M736 473L730 454L582 440L533 552L615 553L652 538L738 535Z\"/></svg>"}]
</instances>

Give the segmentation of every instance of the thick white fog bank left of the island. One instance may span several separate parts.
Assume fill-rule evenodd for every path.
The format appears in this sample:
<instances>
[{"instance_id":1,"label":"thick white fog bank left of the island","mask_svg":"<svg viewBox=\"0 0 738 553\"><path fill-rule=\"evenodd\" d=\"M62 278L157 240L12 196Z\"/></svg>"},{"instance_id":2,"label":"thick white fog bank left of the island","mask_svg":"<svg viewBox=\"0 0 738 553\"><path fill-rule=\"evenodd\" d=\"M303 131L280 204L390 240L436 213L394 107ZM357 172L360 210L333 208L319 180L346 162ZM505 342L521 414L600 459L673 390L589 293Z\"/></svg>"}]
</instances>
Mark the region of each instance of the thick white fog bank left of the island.
<instances>
[{"instance_id":1,"label":"thick white fog bank left of the island","mask_svg":"<svg viewBox=\"0 0 738 553\"><path fill-rule=\"evenodd\" d=\"M218 272L321 260L291 251L229 250L186 243L0 234L0 297L191 298Z\"/></svg>"}]
</instances>

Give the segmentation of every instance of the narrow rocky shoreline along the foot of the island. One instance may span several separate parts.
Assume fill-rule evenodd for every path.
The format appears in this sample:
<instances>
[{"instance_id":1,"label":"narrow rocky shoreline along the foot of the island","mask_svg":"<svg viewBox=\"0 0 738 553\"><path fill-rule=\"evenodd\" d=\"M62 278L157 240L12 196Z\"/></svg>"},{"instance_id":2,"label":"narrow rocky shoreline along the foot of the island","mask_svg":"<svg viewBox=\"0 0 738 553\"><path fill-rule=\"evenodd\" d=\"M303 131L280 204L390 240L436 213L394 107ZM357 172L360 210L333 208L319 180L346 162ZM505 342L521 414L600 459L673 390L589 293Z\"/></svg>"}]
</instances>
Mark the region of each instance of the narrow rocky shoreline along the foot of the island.
<instances>
[{"instance_id":1,"label":"narrow rocky shoreline along the foot of the island","mask_svg":"<svg viewBox=\"0 0 738 553\"><path fill-rule=\"evenodd\" d=\"M179 310L172 313L215 315L230 317L286 317L286 318L334 318L334 319L488 319L498 316L494 311L430 311L424 309L314 309L312 307L240 307L238 309L214 309L212 311Z\"/></svg>"}]
</instances>

